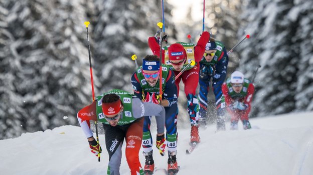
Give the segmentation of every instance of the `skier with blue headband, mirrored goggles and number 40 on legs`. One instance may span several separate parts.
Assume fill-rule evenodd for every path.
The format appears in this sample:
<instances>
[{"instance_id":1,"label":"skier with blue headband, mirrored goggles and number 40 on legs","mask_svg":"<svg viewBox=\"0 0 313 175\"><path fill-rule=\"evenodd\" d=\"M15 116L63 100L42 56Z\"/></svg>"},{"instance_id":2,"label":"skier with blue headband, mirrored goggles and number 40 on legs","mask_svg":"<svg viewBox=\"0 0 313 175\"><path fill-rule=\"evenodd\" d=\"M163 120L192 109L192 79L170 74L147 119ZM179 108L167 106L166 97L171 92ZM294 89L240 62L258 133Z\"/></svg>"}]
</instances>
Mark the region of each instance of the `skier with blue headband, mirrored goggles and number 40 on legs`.
<instances>
[{"instance_id":1,"label":"skier with blue headband, mirrored goggles and number 40 on legs","mask_svg":"<svg viewBox=\"0 0 313 175\"><path fill-rule=\"evenodd\" d=\"M168 171L178 172L176 160L177 154L177 127L175 119L178 113L177 87L173 70L162 65L162 101L165 107L167 135L156 135L156 147L163 154L168 147ZM137 68L131 77L134 94L142 101L159 104L160 96L160 58L156 55L146 55L142 60L142 66ZM152 157L152 136L150 132L151 116L145 116L143 122L142 147L145 156L144 172L152 173L154 161ZM167 140L167 142L166 142Z\"/></svg>"}]
</instances>

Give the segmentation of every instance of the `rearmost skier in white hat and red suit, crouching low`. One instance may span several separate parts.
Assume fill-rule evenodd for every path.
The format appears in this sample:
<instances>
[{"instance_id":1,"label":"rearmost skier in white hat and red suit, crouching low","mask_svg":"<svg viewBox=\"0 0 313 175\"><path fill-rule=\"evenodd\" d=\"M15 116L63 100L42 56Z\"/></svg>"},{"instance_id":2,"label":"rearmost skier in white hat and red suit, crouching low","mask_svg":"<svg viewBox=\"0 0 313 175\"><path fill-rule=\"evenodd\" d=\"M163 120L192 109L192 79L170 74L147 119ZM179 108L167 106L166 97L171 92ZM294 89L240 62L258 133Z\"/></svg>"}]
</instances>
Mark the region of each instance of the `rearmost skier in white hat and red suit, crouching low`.
<instances>
[{"instance_id":1,"label":"rearmost skier in white hat and red suit, crouching low","mask_svg":"<svg viewBox=\"0 0 313 175\"><path fill-rule=\"evenodd\" d=\"M254 93L253 84L240 71L234 71L222 85L226 109L231 116L230 129L238 129L240 119L244 129L250 129L249 112Z\"/></svg>"}]
</instances>

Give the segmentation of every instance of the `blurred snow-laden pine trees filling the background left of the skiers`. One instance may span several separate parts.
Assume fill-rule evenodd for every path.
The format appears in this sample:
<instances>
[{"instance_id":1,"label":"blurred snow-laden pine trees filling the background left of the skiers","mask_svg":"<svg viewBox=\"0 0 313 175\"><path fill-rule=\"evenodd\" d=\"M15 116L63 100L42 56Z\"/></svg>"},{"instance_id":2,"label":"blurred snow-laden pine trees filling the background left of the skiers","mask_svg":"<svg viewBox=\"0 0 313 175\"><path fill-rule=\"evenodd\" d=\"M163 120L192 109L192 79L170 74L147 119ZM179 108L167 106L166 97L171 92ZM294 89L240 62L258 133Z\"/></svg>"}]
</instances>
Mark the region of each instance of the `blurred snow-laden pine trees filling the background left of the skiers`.
<instances>
[{"instance_id":1,"label":"blurred snow-laden pine trees filling the background left of the skiers","mask_svg":"<svg viewBox=\"0 0 313 175\"><path fill-rule=\"evenodd\" d=\"M162 21L156 6L161 1L0 0L0 138L77 124L77 111L92 102L86 20L96 95L132 90L130 56L140 63L151 54L147 38Z\"/></svg>"}]
</instances>

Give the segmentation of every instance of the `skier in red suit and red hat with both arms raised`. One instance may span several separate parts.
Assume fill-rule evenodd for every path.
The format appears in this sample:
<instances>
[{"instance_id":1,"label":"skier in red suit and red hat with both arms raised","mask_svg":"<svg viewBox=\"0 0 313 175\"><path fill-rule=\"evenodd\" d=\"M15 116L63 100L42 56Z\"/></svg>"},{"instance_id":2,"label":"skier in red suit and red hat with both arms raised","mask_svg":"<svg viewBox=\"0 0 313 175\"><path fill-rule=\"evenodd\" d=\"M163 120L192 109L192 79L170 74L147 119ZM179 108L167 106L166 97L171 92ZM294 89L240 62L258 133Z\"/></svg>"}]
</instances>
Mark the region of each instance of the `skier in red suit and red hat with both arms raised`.
<instances>
[{"instance_id":1,"label":"skier in red suit and red hat with both arms raised","mask_svg":"<svg viewBox=\"0 0 313 175\"><path fill-rule=\"evenodd\" d=\"M190 65L175 81L179 92L179 83L183 80L185 94L188 100L188 114L191 122L190 141L200 142L199 136L199 103L196 96L196 88L199 80L199 61L205 51L206 43L210 39L210 33L204 31L199 38L197 45L193 43L177 42L162 48L162 63L170 66L175 76L186 67L192 60L197 64ZM148 44L152 53L160 56L160 45L157 37L149 37Z\"/></svg>"}]
</instances>

